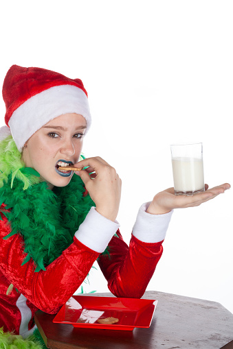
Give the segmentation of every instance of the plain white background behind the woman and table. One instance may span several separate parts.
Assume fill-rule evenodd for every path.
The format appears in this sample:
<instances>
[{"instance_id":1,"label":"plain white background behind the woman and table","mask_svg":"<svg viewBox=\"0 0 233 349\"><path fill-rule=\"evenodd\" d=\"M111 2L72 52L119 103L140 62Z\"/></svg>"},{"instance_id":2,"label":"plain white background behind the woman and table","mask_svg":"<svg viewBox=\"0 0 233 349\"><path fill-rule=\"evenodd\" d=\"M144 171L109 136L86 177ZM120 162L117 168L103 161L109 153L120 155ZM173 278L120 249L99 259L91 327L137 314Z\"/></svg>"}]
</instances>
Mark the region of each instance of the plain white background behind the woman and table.
<instances>
[{"instance_id":1,"label":"plain white background behind the woman and table","mask_svg":"<svg viewBox=\"0 0 233 349\"><path fill-rule=\"evenodd\" d=\"M206 183L233 182L232 18L227 0L1 2L1 84L12 64L82 79L93 116L83 151L122 178L127 243L142 202L173 186L171 143L203 142ZM233 312L231 216L232 189L175 210L148 290ZM100 272L90 282L107 291Z\"/></svg>"}]
</instances>

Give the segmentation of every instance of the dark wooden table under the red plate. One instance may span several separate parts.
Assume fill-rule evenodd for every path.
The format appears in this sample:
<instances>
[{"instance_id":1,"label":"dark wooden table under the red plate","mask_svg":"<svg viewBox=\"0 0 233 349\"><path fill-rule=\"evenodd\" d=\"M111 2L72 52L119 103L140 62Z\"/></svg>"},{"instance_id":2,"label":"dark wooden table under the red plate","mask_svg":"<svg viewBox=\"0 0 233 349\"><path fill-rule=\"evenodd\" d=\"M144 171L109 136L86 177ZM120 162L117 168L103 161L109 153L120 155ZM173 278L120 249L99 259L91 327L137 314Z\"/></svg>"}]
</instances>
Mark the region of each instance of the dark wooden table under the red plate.
<instances>
[{"instance_id":1,"label":"dark wooden table under the red plate","mask_svg":"<svg viewBox=\"0 0 233 349\"><path fill-rule=\"evenodd\" d=\"M74 328L54 324L55 315L42 311L36 312L35 321L52 349L233 349L233 315L221 304L157 291L146 291L143 298L158 300L150 328Z\"/></svg>"}]
</instances>

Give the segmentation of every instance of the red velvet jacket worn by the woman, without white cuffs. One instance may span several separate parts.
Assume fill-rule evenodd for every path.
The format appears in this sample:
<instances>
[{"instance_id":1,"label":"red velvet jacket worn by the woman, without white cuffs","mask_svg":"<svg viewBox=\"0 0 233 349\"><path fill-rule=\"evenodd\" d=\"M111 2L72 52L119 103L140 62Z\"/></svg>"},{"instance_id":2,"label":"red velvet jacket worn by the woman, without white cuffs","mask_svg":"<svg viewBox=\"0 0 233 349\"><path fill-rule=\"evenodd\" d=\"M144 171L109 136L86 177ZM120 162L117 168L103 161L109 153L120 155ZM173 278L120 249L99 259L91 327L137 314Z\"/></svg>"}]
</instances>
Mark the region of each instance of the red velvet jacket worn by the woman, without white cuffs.
<instances>
[{"instance_id":1,"label":"red velvet jacket worn by the woman, without white cuffs","mask_svg":"<svg viewBox=\"0 0 233 349\"><path fill-rule=\"evenodd\" d=\"M118 230L118 237L109 243L109 256L98 254L74 237L63 254L47 266L34 272L32 260L25 265L23 238L10 232L5 216L0 220L0 327L27 333L34 326L34 313L41 309L57 313L85 280L96 258L108 281L109 290L118 297L141 298L155 267L162 256L162 241L144 243L132 235L128 247ZM14 285L7 295L10 284Z\"/></svg>"}]
</instances>

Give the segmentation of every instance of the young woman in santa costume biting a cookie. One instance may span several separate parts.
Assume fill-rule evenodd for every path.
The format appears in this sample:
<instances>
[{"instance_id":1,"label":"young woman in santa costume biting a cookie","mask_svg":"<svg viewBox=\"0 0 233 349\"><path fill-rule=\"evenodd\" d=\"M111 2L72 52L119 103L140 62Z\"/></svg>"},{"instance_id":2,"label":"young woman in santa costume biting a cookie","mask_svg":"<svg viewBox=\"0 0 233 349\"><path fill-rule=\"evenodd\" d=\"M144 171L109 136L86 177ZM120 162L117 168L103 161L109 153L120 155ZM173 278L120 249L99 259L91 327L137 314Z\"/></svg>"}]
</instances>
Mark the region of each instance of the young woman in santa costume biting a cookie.
<instances>
[{"instance_id":1,"label":"young woman in santa costume biting a cookie","mask_svg":"<svg viewBox=\"0 0 233 349\"><path fill-rule=\"evenodd\" d=\"M119 231L121 180L102 158L80 160L91 124L79 79L12 66L3 83L0 137L0 327L27 337L34 313L56 313L96 259L118 297L140 298L162 255L173 208L197 206L230 184L194 196L162 191L137 215L129 247ZM60 169L65 167L65 169ZM69 169L69 167L76 167ZM81 170L80 170L81 169Z\"/></svg>"}]
</instances>

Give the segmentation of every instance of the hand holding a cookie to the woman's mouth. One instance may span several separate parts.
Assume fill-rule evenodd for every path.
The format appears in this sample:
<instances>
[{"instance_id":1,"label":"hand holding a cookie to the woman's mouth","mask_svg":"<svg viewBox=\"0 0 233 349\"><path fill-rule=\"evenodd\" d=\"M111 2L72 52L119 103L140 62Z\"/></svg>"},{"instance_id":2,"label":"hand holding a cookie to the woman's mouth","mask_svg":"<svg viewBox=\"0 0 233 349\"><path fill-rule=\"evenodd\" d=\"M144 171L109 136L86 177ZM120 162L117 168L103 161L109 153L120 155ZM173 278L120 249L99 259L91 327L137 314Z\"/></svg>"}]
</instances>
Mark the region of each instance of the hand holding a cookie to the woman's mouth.
<instances>
[{"instance_id":1,"label":"hand holding a cookie to the woman's mouth","mask_svg":"<svg viewBox=\"0 0 233 349\"><path fill-rule=\"evenodd\" d=\"M75 167L79 168L87 166L89 166L87 169L75 173L84 182L91 199L96 204L97 212L115 221L120 206L122 187L118 173L100 157L86 158L75 164Z\"/></svg>"}]
</instances>

